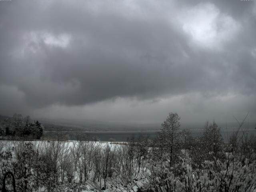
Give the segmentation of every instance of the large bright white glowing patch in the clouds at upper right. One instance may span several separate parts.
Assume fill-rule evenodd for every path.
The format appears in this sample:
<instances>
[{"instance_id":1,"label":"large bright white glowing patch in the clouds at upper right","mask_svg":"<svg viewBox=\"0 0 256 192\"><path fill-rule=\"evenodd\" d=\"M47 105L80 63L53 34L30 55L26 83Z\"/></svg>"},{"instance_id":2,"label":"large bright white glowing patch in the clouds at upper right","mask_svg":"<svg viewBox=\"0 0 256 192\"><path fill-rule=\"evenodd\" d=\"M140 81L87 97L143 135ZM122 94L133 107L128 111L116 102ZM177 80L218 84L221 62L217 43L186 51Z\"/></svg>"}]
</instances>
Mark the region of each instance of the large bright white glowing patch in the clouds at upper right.
<instances>
[{"instance_id":1,"label":"large bright white glowing patch in the clouds at upper right","mask_svg":"<svg viewBox=\"0 0 256 192\"><path fill-rule=\"evenodd\" d=\"M208 48L219 47L238 30L236 21L211 3L184 10L179 20L184 32L191 35L194 42Z\"/></svg>"}]
</instances>

